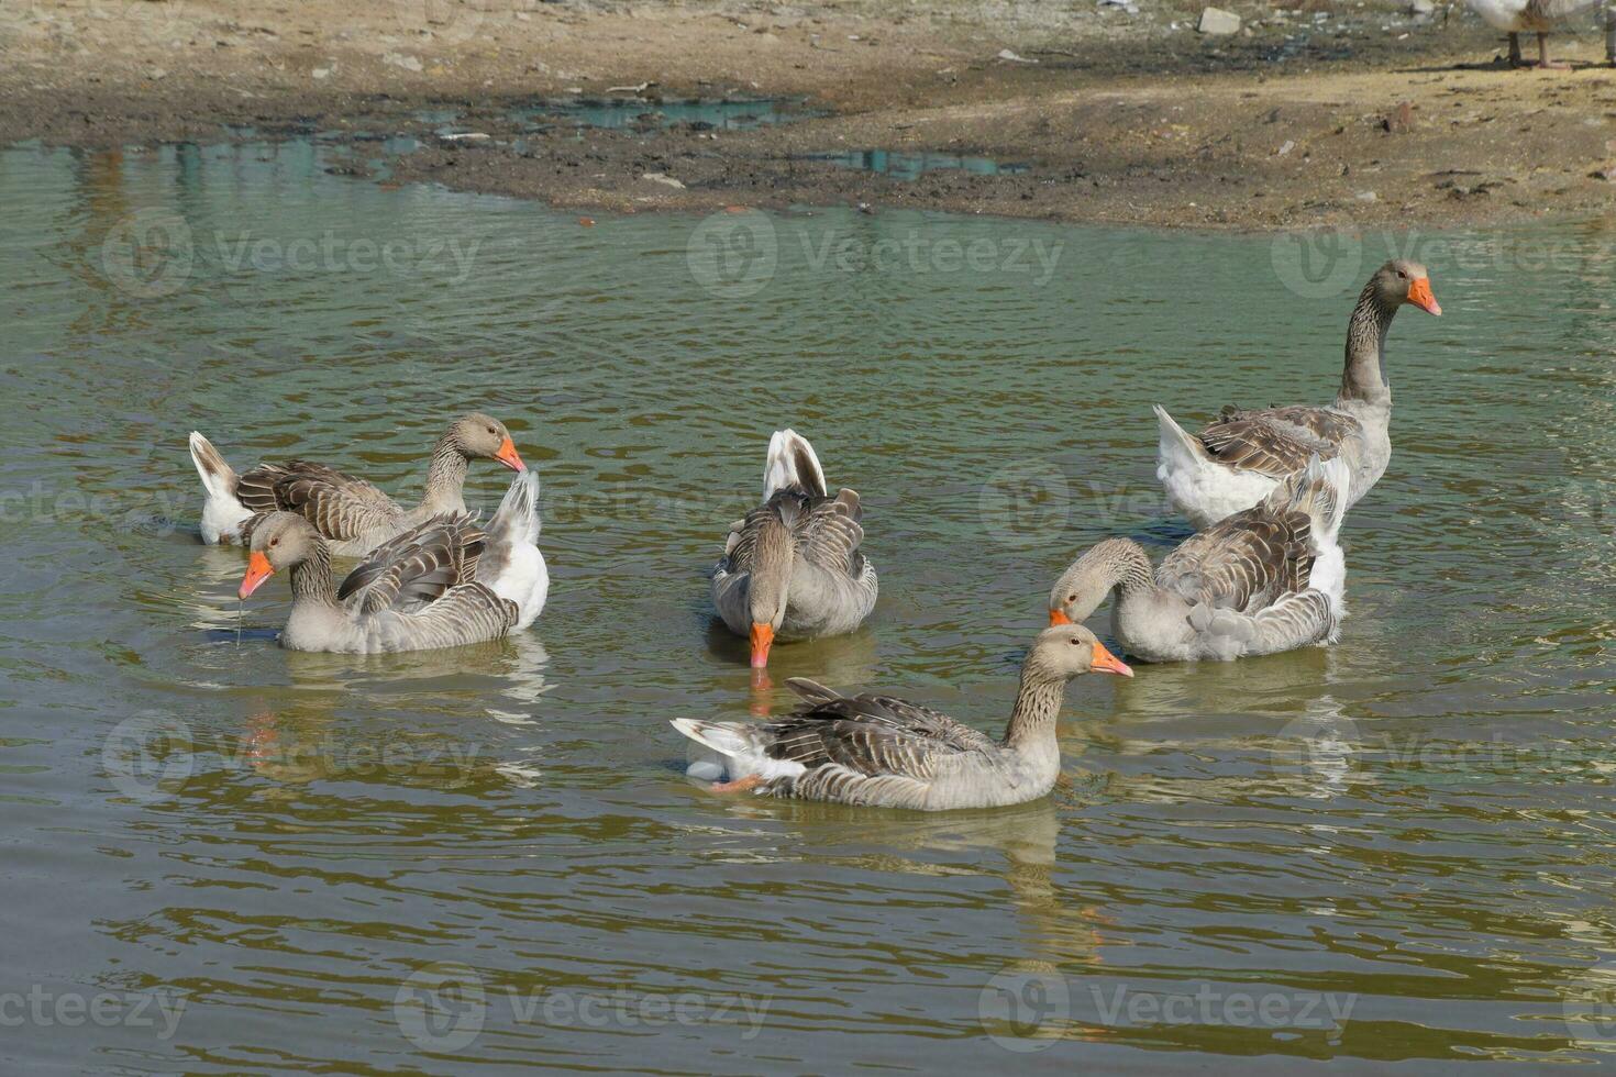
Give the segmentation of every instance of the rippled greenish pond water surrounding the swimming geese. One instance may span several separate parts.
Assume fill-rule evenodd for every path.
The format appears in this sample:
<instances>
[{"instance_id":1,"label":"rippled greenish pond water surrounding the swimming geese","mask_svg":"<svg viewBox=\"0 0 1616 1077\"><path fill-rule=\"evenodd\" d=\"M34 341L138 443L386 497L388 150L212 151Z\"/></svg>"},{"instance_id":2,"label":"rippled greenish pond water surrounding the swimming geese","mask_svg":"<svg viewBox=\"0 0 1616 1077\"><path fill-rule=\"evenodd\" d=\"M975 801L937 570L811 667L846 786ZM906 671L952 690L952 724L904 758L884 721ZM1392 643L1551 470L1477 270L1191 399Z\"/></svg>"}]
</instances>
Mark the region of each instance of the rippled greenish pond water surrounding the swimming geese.
<instances>
[{"instance_id":1,"label":"rippled greenish pond water surrounding the swimming geese","mask_svg":"<svg viewBox=\"0 0 1616 1077\"><path fill-rule=\"evenodd\" d=\"M10 1069L1606 1056L1610 221L1335 245L842 210L580 228L325 165L0 153ZM1340 646L1078 681L1067 783L1020 809L684 777L667 719L779 712L793 675L997 733L1055 573L1186 533L1149 405L1328 400L1356 289L1406 244L1446 313L1393 329L1396 449L1348 520ZM273 644L283 581L238 615L187 431L409 497L473 405L545 483L532 631L354 659ZM705 572L785 425L863 494L882 594L755 691ZM504 483L475 467L469 501Z\"/></svg>"}]
</instances>

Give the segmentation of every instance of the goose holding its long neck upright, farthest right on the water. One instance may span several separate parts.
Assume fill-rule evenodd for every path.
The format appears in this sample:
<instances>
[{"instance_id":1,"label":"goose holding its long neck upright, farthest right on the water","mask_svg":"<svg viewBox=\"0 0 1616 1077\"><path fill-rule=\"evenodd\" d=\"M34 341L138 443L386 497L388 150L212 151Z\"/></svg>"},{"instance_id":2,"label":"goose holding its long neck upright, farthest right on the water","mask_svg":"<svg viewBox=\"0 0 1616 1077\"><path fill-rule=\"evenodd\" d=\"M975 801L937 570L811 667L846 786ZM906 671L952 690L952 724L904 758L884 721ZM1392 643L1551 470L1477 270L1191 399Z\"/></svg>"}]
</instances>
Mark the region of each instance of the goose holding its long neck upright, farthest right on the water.
<instances>
[{"instance_id":1,"label":"goose holding its long neck upright, farthest right on the water","mask_svg":"<svg viewBox=\"0 0 1616 1077\"><path fill-rule=\"evenodd\" d=\"M1404 305L1441 315L1425 266L1395 258L1375 270L1346 326L1341 391L1328 407L1231 407L1189 436L1155 405L1160 447L1155 476L1175 509L1206 528L1249 509L1314 454L1351 470L1346 509L1369 492L1391 460L1391 388L1383 363L1387 331Z\"/></svg>"}]
</instances>

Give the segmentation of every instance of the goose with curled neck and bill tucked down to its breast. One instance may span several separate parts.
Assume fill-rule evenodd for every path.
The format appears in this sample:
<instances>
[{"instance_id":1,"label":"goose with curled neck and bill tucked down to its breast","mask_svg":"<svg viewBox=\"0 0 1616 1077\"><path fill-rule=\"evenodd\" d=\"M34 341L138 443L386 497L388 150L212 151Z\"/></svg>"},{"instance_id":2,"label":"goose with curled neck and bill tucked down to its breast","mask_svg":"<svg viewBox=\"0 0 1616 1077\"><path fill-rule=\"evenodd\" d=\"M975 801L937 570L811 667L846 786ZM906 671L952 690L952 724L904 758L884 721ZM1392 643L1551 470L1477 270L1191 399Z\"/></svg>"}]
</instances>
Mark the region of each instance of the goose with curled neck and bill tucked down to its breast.
<instances>
[{"instance_id":1,"label":"goose with curled neck and bill tucked down to its breast","mask_svg":"<svg viewBox=\"0 0 1616 1077\"><path fill-rule=\"evenodd\" d=\"M1346 483L1343 459L1314 455L1264 501L1185 539L1154 572L1138 543L1105 539L1055 581L1049 623L1079 623L1115 593L1112 630L1130 659L1238 659L1335 643Z\"/></svg>"}]
</instances>

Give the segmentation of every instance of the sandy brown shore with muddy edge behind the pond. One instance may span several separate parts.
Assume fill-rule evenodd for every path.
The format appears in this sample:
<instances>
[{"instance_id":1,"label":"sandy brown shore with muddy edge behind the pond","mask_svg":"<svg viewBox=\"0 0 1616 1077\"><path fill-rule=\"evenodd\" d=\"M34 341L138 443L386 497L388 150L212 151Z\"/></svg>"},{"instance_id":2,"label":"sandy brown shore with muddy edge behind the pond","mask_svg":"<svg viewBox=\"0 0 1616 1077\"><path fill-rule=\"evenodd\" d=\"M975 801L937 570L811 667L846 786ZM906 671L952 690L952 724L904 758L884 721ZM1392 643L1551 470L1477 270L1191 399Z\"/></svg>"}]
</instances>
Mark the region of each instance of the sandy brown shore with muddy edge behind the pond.
<instances>
[{"instance_id":1,"label":"sandy brown shore with muddy edge behind the pond","mask_svg":"<svg viewBox=\"0 0 1616 1077\"><path fill-rule=\"evenodd\" d=\"M1207 37L1199 5L1138 5L24 0L0 10L0 142L419 132L394 179L612 210L866 202L1302 228L1616 205L1597 11L1553 39L1574 69L1509 71L1462 6L1419 21L1388 0L1235 5L1248 32ZM798 95L823 115L748 131L579 136L514 115L553 97L654 111ZM446 118L490 137L443 144ZM903 181L816 160L848 150L1025 170Z\"/></svg>"}]
</instances>

